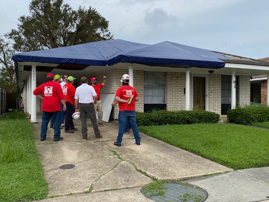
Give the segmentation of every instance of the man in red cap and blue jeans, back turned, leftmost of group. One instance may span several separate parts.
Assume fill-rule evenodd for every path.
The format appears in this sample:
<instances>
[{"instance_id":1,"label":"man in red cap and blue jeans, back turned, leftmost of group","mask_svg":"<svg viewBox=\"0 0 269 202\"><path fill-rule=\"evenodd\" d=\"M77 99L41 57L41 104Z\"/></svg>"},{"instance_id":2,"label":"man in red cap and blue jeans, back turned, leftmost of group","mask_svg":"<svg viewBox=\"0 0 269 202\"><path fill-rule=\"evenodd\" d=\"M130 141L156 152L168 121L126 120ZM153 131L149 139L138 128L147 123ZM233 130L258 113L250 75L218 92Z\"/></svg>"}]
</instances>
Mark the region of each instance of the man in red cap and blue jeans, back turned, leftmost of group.
<instances>
[{"instance_id":1,"label":"man in red cap and blue jeans, back turned, leftmost of group","mask_svg":"<svg viewBox=\"0 0 269 202\"><path fill-rule=\"evenodd\" d=\"M41 84L37 87L33 94L38 98L43 100L41 110L42 110L42 123L40 140L44 141L47 137L48 123L50 119L54 119L54 141L63 140L61 137L61 105L63 104L63 110L66 109L65 100L63 96L63 91L59 83L55 83L55 78L53 74L47 75L47 83ZM42 94L42 95L41 95Z\"/></svg>"}]
</instances>

